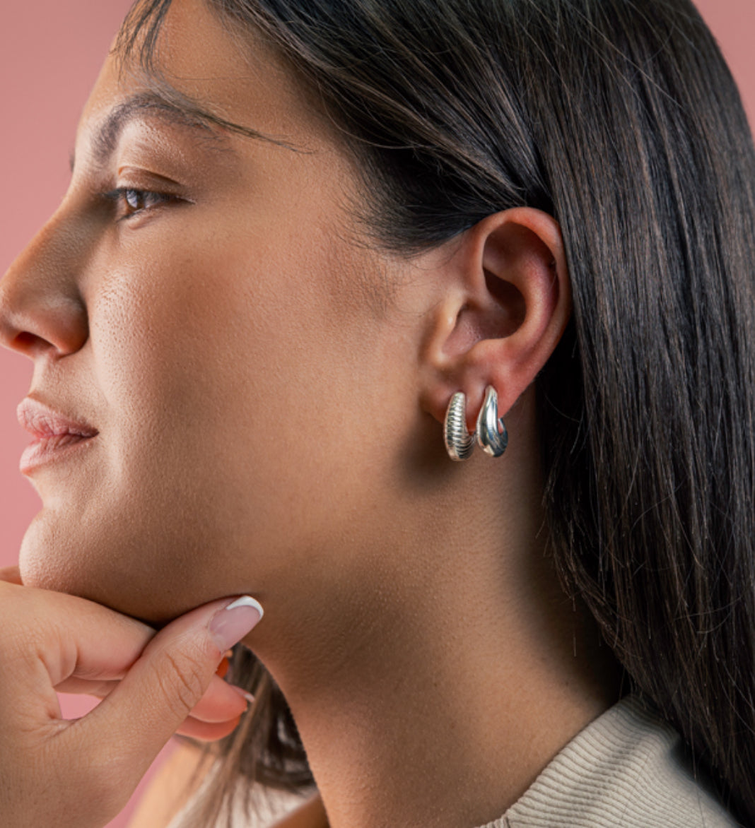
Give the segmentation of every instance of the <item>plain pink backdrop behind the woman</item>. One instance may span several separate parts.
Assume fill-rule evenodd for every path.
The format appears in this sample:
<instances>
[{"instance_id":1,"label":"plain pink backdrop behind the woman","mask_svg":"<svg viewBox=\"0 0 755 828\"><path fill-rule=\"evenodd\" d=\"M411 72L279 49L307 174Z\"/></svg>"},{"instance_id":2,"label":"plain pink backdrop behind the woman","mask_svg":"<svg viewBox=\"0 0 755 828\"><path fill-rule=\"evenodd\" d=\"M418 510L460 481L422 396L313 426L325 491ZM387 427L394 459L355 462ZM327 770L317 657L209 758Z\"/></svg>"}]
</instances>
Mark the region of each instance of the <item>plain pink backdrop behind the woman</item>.
<instances>
[{"instance_id":1,"label":"plain pink backdrop behind the woman","mask_svg":"<svg viewBox=\"0 0 755 828\"><path fill-rule=\"evenodd\" d=\"M0 133L0 272L5 272L47 217L68 184L69 152L80 109L111 37L130 0L36 0L5 3L0 24L2 123ZM755 115L755 3L699 0ZM0 566L17 561L36 494L18 473L27 445L15 411L27 392L31 361L0 352ZM67 717L84 715L92 702L63 697ZM157 763L165 758L170 746ZM157 763L152 766L152 773ZM145 782L147 779L145 778ZM110 828L123 828L143 790Z\"/></svg>"}]
</instances>

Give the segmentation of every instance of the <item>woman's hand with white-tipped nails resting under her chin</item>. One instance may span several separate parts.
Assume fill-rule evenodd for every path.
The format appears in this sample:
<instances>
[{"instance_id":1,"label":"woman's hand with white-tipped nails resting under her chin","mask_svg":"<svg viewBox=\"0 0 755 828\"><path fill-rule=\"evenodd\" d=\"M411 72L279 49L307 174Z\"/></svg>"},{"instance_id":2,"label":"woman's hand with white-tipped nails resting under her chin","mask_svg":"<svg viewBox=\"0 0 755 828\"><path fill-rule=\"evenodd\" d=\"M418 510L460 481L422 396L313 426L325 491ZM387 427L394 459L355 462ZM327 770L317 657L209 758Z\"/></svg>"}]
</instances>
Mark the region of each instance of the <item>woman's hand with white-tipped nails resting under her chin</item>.
<instances>
[{"instance_id":1,"label":"woman's hand with white-tipped nails resting under her chin","mask_svg":"<svg viewBox=\"0 0 755 828\"><path fill-rule=\"evenodd\" d=\"M92 601L25 587L17 567L0 569L3 828L102 828L172 734L229 734L246 702L215 671L259 620L256 602L228 611L232 600L155 633ZM56 690L103 700L66 721Z\"/></svg>"}]
</instances>

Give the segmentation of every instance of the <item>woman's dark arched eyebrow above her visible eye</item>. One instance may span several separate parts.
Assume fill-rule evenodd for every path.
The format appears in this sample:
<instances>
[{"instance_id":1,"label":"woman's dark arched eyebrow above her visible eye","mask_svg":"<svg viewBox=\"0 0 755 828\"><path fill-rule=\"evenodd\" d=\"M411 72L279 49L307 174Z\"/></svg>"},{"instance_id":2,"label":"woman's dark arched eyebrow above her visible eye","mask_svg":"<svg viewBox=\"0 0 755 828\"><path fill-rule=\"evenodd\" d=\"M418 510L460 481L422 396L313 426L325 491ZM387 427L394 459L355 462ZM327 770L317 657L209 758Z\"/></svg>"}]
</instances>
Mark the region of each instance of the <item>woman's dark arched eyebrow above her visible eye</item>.
<instances>
[{"instance_id":1,"label":"woman's dark arched eyebrow above her visible eye","mask_svg":"<svg viewBox=\"0 0 755 828\"><path fill-rule=\"evenodd\" d=\"M123 129L145 112L155 113L168 123L201 133L201 137L214 144L217 149L232 152L228 135L224 134L225 131L271 142L294 152L301 152L298 147L294 147L281 138L264 135L255 129L221 118L176 89L170 89L168 94L161 94L157 91L133 94L109 111L96 128L92 138L92 148L97 163L103 164L113 155ZM74 167L75 152L71 151L71 172L74 171Z\"/></svg>"}]
</instances>

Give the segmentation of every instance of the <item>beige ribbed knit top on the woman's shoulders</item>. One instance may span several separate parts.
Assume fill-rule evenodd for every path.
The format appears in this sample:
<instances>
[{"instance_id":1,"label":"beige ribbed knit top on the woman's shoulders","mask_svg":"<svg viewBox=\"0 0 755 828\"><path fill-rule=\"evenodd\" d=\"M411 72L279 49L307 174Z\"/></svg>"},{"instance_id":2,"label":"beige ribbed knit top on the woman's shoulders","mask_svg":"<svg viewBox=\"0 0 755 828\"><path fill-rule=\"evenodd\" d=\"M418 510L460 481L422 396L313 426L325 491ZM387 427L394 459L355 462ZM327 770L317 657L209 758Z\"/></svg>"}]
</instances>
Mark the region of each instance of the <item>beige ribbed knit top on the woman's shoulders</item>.
<instances>
[{"instance_id":1,"label":"beige ribbed knit top on the woman's shoulders","mask_svg":"<svg viewBox=\"0 0 755 828\"><path fill-rule=\"evenodd\" d=\"M263 802L251 823L263 828L301 798ZM169 828L181 828L191 802ZM223 825L222 821L216 823ZM577 734L520 799L480 828L732 828L703 777L695 779L680 735L634 696ZM358 828L358 826L354 826Z\"/></svg>"}]
</instances>

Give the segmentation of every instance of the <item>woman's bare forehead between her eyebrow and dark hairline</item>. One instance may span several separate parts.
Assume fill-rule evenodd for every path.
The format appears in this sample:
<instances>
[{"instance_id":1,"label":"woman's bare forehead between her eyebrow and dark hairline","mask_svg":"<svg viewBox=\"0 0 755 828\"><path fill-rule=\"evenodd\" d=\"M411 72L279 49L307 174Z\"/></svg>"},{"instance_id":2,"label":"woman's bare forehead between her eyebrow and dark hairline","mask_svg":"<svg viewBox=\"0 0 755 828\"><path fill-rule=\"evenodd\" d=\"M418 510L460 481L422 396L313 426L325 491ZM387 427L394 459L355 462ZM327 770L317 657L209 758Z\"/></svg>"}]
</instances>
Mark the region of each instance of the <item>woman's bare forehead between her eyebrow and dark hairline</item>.
<instances>
[{"instance_id":1,"label":"woman's bare forehead between her eyebrow and dark hairline","mask_svg":"<svg viewBox=\"0 0 755 828\"><path fill-rule=\"evenodd\" d=\"M315 150L335 138L292 70L262 37L232 28L202 0L173 0L157 39L156 74L138 55L105 60L80 122L80 135L136 96L160 89L214 118L273 141Z\"/></svg>"}]
</instances>

